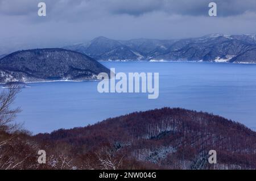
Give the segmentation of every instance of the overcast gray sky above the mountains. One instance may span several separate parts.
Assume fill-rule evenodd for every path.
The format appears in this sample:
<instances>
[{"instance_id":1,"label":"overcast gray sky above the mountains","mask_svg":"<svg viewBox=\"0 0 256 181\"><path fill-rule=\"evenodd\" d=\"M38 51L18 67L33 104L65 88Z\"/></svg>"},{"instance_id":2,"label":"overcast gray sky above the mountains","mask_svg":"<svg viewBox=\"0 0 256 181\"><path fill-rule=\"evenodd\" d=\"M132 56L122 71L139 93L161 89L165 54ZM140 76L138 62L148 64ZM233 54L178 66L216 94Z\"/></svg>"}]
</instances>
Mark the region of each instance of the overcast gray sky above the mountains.
<instances>
[{"instance_id":1,"label":"overcast gray sky above the mountains","mask_svg":"<svg viewBox=\"0 0 256 181\"><path fill-rule=\"evenodd\" d=\"M45 2L47 16L38 16ZM208 15L217 3L217 17ZM61 47L97 36L180 39L256 33L255 0L0 0L0 47ZM0 53L3 50L0 50Z\"/></svg>"}]
</instances>

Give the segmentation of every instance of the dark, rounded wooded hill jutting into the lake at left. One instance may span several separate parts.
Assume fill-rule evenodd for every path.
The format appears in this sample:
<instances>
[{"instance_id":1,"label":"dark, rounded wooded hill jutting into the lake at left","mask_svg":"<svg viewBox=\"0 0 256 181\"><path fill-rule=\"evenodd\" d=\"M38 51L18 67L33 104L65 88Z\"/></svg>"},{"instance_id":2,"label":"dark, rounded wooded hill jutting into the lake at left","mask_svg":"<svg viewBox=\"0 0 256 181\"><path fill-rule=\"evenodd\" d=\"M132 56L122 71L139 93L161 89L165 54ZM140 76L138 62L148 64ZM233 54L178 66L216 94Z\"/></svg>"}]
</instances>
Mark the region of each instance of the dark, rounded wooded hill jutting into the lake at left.
<instances>
[{"instance_id":1,"label":"dark, rounded wooded hill jutting into the lake at left","mask_svg":"<svg viewBox=\"0 0 256 181\"><path fill-rule=\"evenodd\" d=\"M0 59L0 82L85 81L110 73L85 54L60 48L21 50Z\"/></svg>"}]
</instances>

